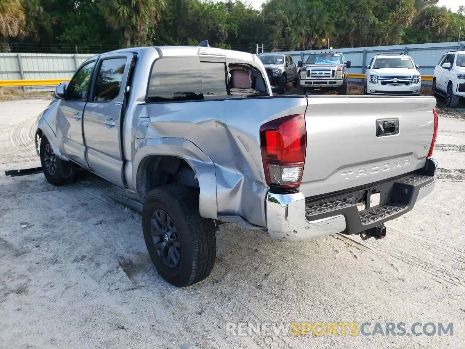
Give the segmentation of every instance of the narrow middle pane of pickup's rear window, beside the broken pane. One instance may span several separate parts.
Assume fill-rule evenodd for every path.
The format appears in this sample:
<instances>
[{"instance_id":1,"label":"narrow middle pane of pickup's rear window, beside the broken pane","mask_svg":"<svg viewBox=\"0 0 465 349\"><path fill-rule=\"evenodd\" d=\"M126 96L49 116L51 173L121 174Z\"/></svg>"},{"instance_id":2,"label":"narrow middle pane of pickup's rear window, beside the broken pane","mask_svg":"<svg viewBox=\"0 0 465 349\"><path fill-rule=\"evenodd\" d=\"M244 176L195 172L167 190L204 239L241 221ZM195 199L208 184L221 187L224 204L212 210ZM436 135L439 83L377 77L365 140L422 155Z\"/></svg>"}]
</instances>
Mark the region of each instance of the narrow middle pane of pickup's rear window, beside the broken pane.
<instances>
[{"instance_id":1,"label":"narrow middle pane of pickup's rear window, beside the broken pane","mask_svg":"<svg viewBox=\"0 0 465 349\"><path fill-rule=\"evenodd\" d=\"M209 95L227 95L226 63L200 62L202 71L202 92Z\"/></svg>"}]
</instances>

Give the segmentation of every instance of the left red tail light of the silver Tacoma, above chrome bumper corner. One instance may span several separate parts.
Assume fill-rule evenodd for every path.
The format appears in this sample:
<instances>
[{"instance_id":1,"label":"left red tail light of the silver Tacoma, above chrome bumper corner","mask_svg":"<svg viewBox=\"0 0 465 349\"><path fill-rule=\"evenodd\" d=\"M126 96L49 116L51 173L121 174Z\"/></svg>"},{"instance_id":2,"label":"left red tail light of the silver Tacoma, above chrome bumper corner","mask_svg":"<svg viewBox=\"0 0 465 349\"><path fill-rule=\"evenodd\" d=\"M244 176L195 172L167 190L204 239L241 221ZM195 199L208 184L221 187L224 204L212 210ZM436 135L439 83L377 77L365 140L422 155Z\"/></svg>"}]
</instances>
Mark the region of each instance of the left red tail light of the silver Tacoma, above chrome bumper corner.
<instances>
[{"instance_id":1,"label":"left red tail light of the silver Tacoma, above chrome bumper corner","mask_svg":"<svg viewBox=\"0 0 465 349\"><path fill-rule=\"evenodd\" d=\"M298 188L306 151L305 115L279 118L260 128L260 145L266 183Z\"/></svg>"}]
</instances>

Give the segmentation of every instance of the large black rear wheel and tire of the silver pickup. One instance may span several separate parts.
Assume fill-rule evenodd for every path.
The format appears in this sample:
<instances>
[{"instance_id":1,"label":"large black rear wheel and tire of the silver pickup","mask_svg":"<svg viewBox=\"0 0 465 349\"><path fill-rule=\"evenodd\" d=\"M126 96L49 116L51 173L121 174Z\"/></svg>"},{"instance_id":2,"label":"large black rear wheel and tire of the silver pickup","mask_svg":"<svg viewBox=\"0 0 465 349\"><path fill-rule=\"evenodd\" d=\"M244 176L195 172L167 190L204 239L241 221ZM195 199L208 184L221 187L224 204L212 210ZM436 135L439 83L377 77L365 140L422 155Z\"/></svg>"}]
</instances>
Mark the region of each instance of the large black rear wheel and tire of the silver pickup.
<instances>
[{"instance_id":1,"label":"large black rear wheel and tire of the silver pickup","mask_svg":"<svg viewBox=\"0 0 465 349\"><path fill-rule=\"evenodd\" d=\"M215 229L199 214L199 189L179 184L153 189L142 208L142 229L153 265L167 282L186 287L212 272Z\"/></svg>"}]
</instances>

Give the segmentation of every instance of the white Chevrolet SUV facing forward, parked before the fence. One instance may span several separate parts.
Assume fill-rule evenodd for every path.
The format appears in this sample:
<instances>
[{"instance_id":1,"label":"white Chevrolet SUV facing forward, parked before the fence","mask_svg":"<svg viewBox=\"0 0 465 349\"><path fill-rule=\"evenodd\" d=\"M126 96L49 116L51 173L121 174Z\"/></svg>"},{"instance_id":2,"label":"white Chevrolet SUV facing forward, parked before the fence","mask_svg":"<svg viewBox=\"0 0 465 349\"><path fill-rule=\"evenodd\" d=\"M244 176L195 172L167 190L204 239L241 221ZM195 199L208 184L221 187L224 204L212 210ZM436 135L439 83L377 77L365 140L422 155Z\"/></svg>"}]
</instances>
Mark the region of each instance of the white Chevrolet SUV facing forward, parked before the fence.
<instances>
[{"instance_id":1,"label":"white Chevrolet SUV facing forward, parked before the fence","mask_svg":"<svg viewBox=\"0 0 465 349\"><path fill-rule=\"evenodd\" d=\"M366 67L364 93L419 96L421 75L417 68L406 54L377 54Z\"/></svg>"}]
</instances>

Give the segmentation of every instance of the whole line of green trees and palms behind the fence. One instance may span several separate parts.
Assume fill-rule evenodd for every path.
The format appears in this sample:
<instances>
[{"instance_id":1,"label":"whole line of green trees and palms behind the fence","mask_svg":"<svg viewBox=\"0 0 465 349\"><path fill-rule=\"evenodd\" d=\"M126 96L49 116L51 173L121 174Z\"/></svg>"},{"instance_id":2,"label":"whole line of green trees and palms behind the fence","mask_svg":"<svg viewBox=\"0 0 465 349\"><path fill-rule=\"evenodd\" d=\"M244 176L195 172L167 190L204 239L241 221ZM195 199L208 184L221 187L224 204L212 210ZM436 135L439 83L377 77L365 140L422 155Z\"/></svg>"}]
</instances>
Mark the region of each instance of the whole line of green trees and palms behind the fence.
<instances>
[{"instance_id":1,"label":"whole line of green trees and palms behind the fence","mask_svg":"<svg viewBox=\"0 0 465 349\"><path fill-rule=\"evenodd\" d=\"M465 7L438 0L0 0L0 52L197 45L266 52L458 39ZM326 41L325 41L326 40Z\"/></svg>"}]
</instances>

